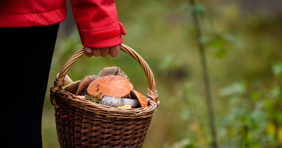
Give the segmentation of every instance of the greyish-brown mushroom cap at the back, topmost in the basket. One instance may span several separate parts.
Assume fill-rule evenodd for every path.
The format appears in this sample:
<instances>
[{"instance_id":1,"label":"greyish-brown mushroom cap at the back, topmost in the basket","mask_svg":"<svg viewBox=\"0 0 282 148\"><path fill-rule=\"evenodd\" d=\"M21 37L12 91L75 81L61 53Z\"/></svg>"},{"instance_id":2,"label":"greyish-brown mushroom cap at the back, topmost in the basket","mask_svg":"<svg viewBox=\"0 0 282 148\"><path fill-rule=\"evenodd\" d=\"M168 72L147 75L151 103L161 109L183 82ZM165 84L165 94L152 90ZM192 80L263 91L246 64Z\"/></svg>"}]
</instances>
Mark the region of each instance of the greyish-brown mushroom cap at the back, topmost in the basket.
<instances>
[{"instance_id":1,"label":"greyish-brown mushroom cap at the back, topmost in the basket","mask_svg":"<svg viewBox=\"0 0 282 148\"><path fill-rule=\"evenodd\" d=\"M100 77L109 76L109 75L122 76L129 81L129 78L127 77L125 72L122 71L119 67L116 67L116 66L106 67L106 68L102 69L98 74L98 76L100 76Z\"/></svg>"}]
</instances>

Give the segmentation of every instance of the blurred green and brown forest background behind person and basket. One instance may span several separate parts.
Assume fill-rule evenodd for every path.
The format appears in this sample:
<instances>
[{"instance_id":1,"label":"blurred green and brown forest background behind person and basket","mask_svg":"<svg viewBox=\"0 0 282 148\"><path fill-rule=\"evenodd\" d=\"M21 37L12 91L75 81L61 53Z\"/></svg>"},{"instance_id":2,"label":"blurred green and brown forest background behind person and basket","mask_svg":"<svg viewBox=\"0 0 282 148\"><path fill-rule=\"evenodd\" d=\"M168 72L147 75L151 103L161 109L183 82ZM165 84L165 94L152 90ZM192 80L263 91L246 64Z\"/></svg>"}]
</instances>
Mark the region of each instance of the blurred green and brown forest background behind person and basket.
<instances>
[{"instance_id":1,"label":"blurred green and brown forest background behind person and basket","mask_svg":"<svg viewBox=\"0 0 282 148\"><path fill-rule=\"evenodd\" d=\"M69 3L69 2L68 2ZM219 147L282 147L282 1L196 1L211 83ZM124 44L151 67L160 105L143 147L211 147L209 116L191 6L184 0L118 1ZM68 4L60 23L46 90L43 147L57 148L49 89L57 73L82 47ZM68 72L77 81L118 66L135 90L146 95L140 65L120 52L116 58L83 56Z\"/></svg>"}]
</instances>

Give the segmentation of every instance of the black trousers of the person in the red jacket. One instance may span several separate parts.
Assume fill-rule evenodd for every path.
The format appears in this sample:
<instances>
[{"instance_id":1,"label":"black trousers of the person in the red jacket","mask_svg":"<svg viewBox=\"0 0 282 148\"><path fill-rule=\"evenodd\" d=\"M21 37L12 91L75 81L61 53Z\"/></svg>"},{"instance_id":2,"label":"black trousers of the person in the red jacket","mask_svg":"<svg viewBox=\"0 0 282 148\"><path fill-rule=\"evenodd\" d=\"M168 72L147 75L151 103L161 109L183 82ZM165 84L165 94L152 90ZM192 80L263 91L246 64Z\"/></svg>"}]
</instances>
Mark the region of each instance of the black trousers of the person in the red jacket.
<instances>
[{"instance_id":1,"label":"black trousers of the person in the red jacket","mask_svg":"<svg viewBox=\"0 0 282 148\"><path fill-rule=\"evenodd\" d=\"M58 28L59 23L0 28L5 147L42 147L42 109Z\"/></svg>"}]
</instances>

